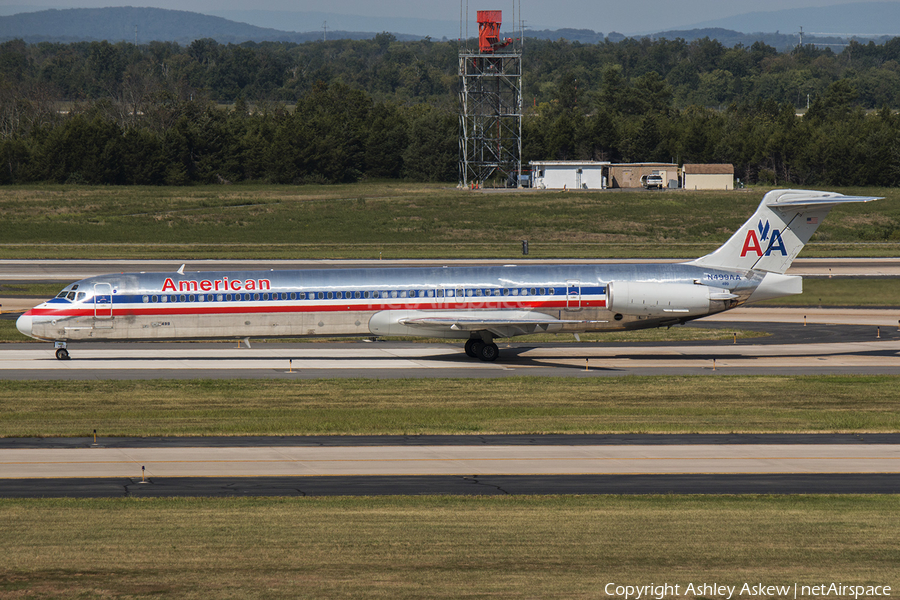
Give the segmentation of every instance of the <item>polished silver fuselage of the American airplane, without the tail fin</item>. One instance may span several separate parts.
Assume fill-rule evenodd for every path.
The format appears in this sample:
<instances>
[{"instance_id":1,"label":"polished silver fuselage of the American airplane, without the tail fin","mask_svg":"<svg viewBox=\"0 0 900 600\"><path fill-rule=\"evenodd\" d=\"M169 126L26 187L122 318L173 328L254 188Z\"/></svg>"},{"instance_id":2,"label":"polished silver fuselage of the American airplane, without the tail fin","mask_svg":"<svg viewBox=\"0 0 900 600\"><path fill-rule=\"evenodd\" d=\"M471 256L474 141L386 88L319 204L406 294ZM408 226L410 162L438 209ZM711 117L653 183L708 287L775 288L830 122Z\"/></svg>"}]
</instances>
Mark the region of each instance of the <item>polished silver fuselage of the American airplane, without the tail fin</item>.
<instances>
[{"instance_id":1,"label":"polished silver fuselage of the American airplane, without the tail fin","mask_svg":"<svg viewBox=\"0 0 900 600\"><path fill-rule=\"evenodd\" d=\"M471 327L434 324L429 317L452 321L489 315L485 321L493 329L485 329L494 337L659 327L739 306L762 279L754 271L690 264L125 273L76 282L61 294L71 298L54 298L27 314L32 337L57 341L373 335L465 339L472 335ZM710 299L708 305L700 302L690 309L638 306L620 311L612 295L624 284L616 282L664 284L666 290L687 292L701 286ZM626 306L623 302L618 306ZM535 315L545 322L530 327L528 320ZM420 323L410 324L420 316Z\"/></svg>"}]
</instances>

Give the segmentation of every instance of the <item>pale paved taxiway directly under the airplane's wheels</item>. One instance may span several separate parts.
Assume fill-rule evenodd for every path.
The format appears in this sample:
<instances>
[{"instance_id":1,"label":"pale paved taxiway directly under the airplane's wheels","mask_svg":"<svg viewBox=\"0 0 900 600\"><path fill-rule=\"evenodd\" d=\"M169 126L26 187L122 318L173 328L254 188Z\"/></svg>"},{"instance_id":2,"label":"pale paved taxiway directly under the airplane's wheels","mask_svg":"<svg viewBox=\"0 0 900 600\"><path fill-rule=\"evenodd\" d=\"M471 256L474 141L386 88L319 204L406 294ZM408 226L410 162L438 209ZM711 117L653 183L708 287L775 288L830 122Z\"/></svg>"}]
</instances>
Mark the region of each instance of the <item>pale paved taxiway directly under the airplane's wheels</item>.
<instances>
[{"instance_id":1,"label":"pale paved taxiway directly under the airplane's wheels","mask_svg":"<svg viewBox=\"0 0 900 600\"><path fill-rule=\"evenodd\" d=\"M893 320L896 313L885 311ZM845 320L852 320L851 318ZM320 379L373 377L900 374L896 326L704 319L700 327L748 329L768 337L717 342L502 342L500 358L468 358L461 343L251 342L71 344L60 361L50 343L0 345L0 378Z\"/></svg>"}]
</instances>

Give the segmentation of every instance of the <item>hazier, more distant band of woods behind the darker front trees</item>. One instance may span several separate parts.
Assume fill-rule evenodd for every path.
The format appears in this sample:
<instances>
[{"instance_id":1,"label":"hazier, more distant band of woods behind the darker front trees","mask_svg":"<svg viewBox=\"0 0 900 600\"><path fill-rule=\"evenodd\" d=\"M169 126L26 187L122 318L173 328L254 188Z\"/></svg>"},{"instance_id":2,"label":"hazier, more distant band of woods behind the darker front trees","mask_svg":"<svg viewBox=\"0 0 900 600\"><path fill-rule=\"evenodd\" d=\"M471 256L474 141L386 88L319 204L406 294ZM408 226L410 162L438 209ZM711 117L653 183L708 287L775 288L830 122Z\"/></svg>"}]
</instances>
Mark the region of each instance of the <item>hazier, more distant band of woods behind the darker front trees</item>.
<instances>
[{"instance_id":1,"label":"hazier, more distant band of woods behind the darker front trees","mask_svg":"<svg viewBox=\"0 0 900 600\"><path fill-rule=\"evenodd\" d=\"M5 85L41 87L59 100L114 98L140 103L158 89L202 91L215 102L293 103L318 82L343 83L376 101L452 103L458 89L458 43L400 42L389 33L367 40L303 44L220 44L199 39L134 45L121 42L0 44ZM604 73L619 65L627 81L657 73L676 107L725 108L732 102L774 100L805 107L845 80L867 109L900 98L900 38L882 44L851 41L835 53L805 45L778 52L762 42L726 47L715 39L608 39L596 44L527 38L524 95L532 104L558 97L571 75L587 95L602 93ZM896 108L896 106L895 106Z\"/></svg>"}]
</instances>

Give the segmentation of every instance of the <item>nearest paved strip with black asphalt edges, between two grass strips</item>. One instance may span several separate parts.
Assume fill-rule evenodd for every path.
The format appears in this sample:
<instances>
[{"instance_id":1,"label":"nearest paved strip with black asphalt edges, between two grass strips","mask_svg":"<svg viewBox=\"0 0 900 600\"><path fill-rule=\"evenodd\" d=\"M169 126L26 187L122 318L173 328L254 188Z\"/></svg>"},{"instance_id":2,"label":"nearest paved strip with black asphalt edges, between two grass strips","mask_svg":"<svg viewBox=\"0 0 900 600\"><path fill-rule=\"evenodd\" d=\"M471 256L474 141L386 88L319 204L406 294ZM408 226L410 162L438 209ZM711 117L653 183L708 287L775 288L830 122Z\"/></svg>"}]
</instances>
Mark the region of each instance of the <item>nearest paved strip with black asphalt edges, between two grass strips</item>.
<instances>
[{"instance_id":1,"label":"nearest paved strip with black asphalt edges, between two grass strips","mask_svg":"<svg viewBox=\"0 0 900 600\"><path fill-rule=\"evenodd\" d=\"M0 440L0 497L900 493L900 435Z\"/></svg>"}]
</instances>

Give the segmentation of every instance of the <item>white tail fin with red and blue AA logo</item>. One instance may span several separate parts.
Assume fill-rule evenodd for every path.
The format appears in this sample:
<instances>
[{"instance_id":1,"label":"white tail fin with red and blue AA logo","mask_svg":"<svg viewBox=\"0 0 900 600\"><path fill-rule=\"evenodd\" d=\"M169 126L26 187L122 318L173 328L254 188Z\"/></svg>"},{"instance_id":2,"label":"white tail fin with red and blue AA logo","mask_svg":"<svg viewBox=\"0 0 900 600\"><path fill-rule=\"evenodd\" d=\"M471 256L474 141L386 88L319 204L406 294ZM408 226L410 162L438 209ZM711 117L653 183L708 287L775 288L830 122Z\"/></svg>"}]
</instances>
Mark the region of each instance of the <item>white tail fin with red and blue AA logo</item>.
<instances>
[{"instance_id":1,"label":"white tail fin with red and blue AA logo","mask_svg":"<svg viewBox=\"0 0 900 600\"><path fill-rule=\"evenodd\" d=\"M879 199L812 190L772 190L722 247L688 264L783 274L832 207Z\"/></svg>"}]
</instances>

